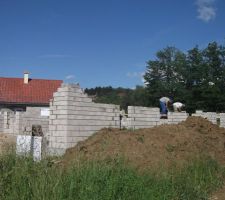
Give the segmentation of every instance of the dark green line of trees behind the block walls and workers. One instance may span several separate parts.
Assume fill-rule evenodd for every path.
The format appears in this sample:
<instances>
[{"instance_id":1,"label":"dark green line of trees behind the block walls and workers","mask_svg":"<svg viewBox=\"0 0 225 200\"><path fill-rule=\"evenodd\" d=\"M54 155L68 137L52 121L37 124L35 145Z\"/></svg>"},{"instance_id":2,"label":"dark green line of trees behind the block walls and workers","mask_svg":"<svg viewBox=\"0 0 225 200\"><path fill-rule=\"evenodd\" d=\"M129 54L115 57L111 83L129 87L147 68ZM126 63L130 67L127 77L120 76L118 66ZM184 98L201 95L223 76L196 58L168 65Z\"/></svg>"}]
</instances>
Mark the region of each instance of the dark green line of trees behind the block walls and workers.
<instances>
[{"instance_id":1,"label":"dark green line of trees behind the block walls and workers","mask_svg":"<svg viewBox=\"0 0 225 200\"><path fill-rule=\"evenodd\" d=\"M128 105L158 106L159 98L168 96L185 103L188 112L225 111L225 46L212 42L206 48L198 46L182 52L166 47L147 61L145 86L134 90L96 87L85 91L96 102Z\"/></svg>"}]
</instances>

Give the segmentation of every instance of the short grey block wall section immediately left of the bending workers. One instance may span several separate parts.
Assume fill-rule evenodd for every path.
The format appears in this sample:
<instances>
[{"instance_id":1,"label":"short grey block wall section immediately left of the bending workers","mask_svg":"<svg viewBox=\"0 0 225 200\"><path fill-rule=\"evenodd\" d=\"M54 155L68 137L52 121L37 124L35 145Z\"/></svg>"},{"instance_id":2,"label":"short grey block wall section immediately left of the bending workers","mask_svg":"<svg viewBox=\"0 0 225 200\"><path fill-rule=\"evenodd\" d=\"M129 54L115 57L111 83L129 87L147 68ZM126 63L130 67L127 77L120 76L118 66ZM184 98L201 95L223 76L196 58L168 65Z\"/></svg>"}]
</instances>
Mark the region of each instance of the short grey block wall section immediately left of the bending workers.
<instances>
[{"instance_id":1,"label":"short grey block wall section immediately left of the bending workers","mask_svg":"<svg viewBox=\"0 0 225 200\"><path fill-rule=\"evenodd\" d=\"M150 128L161 124L159 108L128 106L128 118L130 129Z\"/></svg>"}]
</instances>

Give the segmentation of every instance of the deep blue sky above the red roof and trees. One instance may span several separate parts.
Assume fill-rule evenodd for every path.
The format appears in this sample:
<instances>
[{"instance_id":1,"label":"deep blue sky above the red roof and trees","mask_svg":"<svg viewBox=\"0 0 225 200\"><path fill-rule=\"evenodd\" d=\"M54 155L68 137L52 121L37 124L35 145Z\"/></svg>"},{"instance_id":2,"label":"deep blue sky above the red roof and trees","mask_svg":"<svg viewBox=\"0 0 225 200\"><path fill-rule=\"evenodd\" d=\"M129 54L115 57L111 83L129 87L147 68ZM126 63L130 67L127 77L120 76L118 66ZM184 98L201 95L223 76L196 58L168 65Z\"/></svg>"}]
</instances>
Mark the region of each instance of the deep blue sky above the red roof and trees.
<instances>
[{"instance_id":1,"label":"deep blue sky above the red roof and trees","mask_svg":"<svg viewBox=\"0 0 225 200\"><path fill-rule=\"evenodd\" d=\"M224 0L0 0L0 76L143 84L167 46L225 43Z\"/></svg>"}]
</instances>

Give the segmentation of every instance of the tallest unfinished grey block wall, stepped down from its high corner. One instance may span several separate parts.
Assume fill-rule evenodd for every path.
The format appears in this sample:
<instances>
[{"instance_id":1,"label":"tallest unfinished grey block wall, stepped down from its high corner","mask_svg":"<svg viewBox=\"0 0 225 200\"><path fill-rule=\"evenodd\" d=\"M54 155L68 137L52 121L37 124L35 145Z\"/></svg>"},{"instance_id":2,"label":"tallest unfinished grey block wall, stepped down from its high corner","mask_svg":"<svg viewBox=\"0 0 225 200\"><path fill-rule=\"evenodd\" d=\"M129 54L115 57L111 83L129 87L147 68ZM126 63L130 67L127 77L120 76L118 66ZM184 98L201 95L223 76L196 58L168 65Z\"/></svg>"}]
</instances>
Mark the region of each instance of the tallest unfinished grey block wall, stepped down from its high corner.
<instances>
[{"instance_id":1,"label":"tallest unfinished grey block wall, stepped down from its high corner","mask_svg":"<svg viewBox=\"0 0 225 200\"><path fill-rule=\"evenodd\" d=\"M92 102L77 84L62 84L50 103L48 151L63 154L104 127L119 128L118 105Z\"/></svg>"}]
</instances>

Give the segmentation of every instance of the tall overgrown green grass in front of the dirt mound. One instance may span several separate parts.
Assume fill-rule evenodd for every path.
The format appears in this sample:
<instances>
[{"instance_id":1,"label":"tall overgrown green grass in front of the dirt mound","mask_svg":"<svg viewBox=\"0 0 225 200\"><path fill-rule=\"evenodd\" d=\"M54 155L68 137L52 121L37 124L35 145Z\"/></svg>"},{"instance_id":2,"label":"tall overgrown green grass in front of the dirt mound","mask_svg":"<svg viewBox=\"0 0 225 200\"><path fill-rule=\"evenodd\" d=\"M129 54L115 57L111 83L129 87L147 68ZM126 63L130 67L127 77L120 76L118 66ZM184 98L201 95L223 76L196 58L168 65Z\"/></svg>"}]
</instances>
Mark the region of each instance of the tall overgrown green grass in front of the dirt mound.
<instances>
[{"instance_id":1,"label":"tall overgrown green grass in front of the dirt mound","mask_svg":"<svg viewBox=\"0 0 225 200\"><path fill-rule=\"evenodd\" d=\"M65 170L48 160L34 163L13 154L0 158L1 200L204 200L223 179L224 169L209 158L183 169L145 174L120 160L80 163Z\"/></svg>"}]
</instances>

